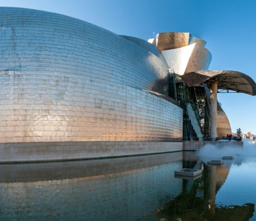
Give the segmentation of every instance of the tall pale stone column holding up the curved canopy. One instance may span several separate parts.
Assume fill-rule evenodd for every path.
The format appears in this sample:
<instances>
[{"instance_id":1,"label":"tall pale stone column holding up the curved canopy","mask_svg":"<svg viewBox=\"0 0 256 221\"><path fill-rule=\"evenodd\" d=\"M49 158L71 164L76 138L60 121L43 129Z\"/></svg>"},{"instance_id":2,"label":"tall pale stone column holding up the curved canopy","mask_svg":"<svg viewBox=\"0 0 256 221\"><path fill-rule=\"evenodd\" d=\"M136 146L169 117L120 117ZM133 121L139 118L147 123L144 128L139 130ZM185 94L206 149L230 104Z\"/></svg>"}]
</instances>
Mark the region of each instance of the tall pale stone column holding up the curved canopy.
<instances>
[{"instance_id":1,"label":"tall pale stone column holding up the curved canopy","mask_svg":"<svg viewBox=\"0 0 256 221\"><path fill-rule=\"evenodd\" d=\"M217 91L218 84L214 82L210 85L210 136L217 137Z\"/></svg>"}]
</instances>

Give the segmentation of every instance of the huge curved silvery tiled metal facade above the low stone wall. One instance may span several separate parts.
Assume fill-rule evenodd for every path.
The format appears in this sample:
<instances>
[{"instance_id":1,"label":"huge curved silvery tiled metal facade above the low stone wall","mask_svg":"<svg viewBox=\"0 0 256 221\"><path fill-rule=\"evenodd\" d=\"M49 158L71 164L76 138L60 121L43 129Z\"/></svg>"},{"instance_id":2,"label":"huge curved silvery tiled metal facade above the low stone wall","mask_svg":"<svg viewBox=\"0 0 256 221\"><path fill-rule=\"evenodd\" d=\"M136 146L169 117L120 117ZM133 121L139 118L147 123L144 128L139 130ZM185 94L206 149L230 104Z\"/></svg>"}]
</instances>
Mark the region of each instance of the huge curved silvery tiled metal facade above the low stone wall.
<instances>
[{"instance_id":1,"label":"huge curved silvery tiled metal facade above the low stone wall","mask_svg":"<svg viewBox=\"0 0 256 221\"><path fill-rule=\"evenodd\" d=\"M164 59L68 16L0 8L0 143L169 141Z\"/></svg>"}]
</instances>

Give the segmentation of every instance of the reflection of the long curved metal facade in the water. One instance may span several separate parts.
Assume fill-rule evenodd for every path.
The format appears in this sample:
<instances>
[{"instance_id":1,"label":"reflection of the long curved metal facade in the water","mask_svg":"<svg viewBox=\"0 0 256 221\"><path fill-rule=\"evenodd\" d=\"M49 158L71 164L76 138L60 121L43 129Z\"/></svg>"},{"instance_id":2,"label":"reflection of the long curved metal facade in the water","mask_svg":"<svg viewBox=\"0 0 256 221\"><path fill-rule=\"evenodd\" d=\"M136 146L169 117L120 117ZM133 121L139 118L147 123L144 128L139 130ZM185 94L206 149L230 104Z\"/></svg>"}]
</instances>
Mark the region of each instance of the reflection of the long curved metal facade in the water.
<instances>
[{"instance_id":1,"label":"reflection of the long curved metal facade in the water","mask_svg":"<svg viewBox=\"0 0 256 221\"><path fill-rule=\"evenodd\" d=\"M135 220L181 192L182 152L0 165L0 220Z\"/></svg>"}]
</instances>

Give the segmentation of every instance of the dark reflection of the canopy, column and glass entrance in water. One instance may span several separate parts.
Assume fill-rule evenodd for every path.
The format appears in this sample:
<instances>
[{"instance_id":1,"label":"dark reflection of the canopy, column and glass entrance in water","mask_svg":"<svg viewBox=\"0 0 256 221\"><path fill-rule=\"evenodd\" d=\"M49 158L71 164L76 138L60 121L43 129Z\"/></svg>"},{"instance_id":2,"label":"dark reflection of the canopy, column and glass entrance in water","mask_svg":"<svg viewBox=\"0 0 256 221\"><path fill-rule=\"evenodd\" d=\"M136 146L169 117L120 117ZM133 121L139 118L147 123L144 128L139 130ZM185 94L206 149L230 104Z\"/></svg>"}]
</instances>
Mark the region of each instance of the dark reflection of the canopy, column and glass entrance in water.
<instances>
[{"instance_id":1,"label":"dark reflection of the canopy, column and glass entrance in water","mask_svg":"<svg viewBox=\"0 0 256 221\"><path fill-rule=\"evenodd\" d=\"M197 180L183 180L182 192L153 214L155 218L182 221L247 221L253 217L255 204L216 207L215 197L225 183L230 166L207 166L191 152L183 153L183 167L202 168ZM228 197L228 196L227 196Z\"/></svg>"}]
</instances>

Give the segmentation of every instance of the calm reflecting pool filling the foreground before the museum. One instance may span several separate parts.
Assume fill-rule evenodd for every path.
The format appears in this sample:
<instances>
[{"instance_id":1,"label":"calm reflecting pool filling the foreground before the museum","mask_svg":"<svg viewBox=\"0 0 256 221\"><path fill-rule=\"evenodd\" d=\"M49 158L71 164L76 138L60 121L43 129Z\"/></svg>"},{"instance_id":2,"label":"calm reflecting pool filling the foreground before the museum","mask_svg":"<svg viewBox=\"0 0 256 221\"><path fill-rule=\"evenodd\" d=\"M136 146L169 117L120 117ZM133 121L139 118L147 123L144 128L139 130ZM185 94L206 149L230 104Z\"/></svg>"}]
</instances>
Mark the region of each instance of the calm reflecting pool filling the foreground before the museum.
<instances>
[{"instance_id":1,"label":"calm reflecting pool filling the foreground before the museum","mask_svg":"<svg viewBox=\"0 0 256 221\"><path fill-rule=\"evenodd\" d=\"M0 220L256 220L256 145L201 153L0 165ZM206 154L222 166L208 166ZM215 153L216 155L214 155ZM197 179L175 178L203 169Z\"/></svg>"}]
</instances>

